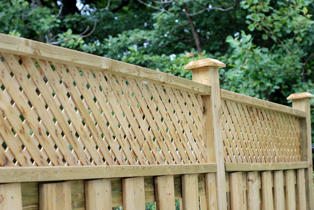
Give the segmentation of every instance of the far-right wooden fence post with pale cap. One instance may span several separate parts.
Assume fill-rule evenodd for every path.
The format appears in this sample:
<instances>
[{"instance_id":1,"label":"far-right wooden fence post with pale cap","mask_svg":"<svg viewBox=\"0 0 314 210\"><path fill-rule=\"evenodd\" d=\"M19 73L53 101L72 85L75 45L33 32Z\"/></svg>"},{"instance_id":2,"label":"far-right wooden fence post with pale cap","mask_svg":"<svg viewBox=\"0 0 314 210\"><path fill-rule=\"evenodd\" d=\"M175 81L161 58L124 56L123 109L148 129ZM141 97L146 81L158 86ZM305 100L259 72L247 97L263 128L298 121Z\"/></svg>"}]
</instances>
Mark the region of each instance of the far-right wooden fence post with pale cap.
<instances>
[{"instance_id":1,"label":"far-right wooden fence post with pale cap","mask_svg":"<svg viewBox=\"0 0 314 210\"><path fill-rule=\"evenodd\" d=\"M302 161L308 161L309 167L305 169L306 186L306 209L314 210L313 191L313 160L312 160L312 137L311 137L311 112L310 98L314 95L303 92L291 94L287 100L292 100L292 107L306 111L306 118L300 119L301 156Z\"/></svg>"}]
</instances>

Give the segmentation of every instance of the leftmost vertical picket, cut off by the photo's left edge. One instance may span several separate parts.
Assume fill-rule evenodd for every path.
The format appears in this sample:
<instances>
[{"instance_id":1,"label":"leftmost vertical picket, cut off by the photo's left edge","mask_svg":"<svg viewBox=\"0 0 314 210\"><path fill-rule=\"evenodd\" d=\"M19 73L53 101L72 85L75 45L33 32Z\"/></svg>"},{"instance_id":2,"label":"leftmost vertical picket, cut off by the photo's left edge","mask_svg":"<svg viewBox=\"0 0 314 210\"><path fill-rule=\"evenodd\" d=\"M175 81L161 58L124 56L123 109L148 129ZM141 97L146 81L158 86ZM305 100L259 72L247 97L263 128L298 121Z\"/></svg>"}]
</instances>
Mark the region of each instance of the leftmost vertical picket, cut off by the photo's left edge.
<instances>
[{"instance_id":1,"label":"leftmost vertical picket, cut off by the photo's left edge","mask_svg":"<svg viewBox=\"0 0 314 210\"><path fill-rule=\"evenodd\" d=\"M0 209L22 210L20 183L9 183L0 185Z\"/></svg>"}]
</instances>

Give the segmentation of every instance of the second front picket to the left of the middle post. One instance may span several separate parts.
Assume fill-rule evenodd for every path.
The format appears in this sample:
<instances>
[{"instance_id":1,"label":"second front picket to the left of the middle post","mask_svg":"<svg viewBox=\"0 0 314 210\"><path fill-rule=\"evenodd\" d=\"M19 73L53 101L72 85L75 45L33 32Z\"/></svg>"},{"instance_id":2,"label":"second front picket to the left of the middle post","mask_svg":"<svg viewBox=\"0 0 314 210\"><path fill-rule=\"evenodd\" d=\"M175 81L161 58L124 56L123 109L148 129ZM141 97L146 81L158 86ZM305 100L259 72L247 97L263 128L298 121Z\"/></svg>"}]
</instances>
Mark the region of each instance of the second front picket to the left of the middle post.
<instances>
[{"instance_id":1,"label":"second front picket to the left of the middle post","mask_svg":"<svg viewBox=\"0 0 314 210\"><path fill-rule=\"evenodd\" d=\"M197 174L181 175L183 209L199 209Z\"/></svg>"}]
</instances>

